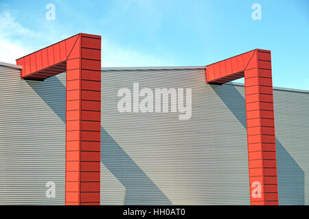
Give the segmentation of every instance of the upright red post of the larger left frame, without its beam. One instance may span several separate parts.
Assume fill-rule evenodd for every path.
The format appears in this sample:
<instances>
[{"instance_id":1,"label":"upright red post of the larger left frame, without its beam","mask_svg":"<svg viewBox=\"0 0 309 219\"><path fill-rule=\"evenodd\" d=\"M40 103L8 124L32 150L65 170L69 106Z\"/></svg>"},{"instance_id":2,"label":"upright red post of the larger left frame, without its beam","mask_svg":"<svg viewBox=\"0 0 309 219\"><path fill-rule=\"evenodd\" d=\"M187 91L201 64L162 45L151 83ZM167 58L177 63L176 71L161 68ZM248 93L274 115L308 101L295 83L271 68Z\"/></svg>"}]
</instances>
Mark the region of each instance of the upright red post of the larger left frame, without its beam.
<instances>
[{"instance_id":1,"label":"upright red post of the larger left frame, without its beam","mask_svg":"<svg viewBox=\"0 0 309 219\"><path fill-rule=\"evenodd\" d=\"M101 37L80 34L67 59L66 205L100 205Z\"/></svg>"}]
</instances>

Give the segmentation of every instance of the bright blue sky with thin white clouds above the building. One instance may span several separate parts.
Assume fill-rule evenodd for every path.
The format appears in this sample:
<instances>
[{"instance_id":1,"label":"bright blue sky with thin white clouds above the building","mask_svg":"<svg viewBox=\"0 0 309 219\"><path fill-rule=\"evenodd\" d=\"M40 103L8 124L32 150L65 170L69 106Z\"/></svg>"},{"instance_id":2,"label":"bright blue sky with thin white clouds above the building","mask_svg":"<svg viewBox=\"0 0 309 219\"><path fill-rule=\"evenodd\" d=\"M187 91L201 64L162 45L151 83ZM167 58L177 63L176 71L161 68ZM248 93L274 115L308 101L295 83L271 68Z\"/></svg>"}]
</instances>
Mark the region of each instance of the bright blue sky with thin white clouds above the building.
<instances>
[{"instance_id":1,"label":"bright blue sky with thin white clouds above the building","mask_svg":"<svg viewBox=\"0 0 309 219\"><path fill-rule=\"evenodd\" d=\"M102 36L102 66L202 66L269 49L273 85L309 90L308 0L0 1L0 62L80 32Z\"/></svg>"}]
</instances>

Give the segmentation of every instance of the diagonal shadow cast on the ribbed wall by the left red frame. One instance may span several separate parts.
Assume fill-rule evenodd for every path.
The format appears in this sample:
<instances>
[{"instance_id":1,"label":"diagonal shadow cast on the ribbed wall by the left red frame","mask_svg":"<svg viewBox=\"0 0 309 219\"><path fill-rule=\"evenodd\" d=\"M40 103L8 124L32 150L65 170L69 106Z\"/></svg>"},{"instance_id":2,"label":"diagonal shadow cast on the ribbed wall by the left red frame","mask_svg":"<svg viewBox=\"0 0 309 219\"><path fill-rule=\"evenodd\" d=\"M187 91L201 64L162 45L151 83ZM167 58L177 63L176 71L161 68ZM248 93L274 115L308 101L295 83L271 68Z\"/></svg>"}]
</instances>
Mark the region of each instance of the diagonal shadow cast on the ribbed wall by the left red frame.
<instances>
[{"instance_id":1,"label":"diagonal shadow cast on the ribbed wall by the left red frame","mask_svg":"<svg viewBox=\"0 0 309 219\"><path fill-rule=\"evenodd\" d=\"M45 81L27 83L65 123L66 88L61 81L57 77L50 77ZM45 88L50 87L54 88L53 92L46 92ZM101 127L101 162L126 188L124 205L172 204L104 127Z\"/></svg>"}]
</instances>

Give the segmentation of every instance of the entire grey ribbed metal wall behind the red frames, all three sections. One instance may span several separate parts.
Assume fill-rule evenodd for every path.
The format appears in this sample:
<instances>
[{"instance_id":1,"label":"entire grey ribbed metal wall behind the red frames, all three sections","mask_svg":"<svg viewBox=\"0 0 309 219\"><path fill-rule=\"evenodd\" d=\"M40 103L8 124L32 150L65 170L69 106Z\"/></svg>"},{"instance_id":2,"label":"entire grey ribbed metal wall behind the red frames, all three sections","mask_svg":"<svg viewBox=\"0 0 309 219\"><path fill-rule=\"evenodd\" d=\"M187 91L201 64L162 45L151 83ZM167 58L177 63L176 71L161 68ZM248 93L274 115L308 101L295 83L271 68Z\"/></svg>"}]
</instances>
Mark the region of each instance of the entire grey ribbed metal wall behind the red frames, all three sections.
<instances>
[{"instance_id":1,"label":"entire grey ribbed metal wall behind the red frames, all three sections","mask_svg":"<svg viewBox=\"0 0 309 219\"><path fill-rule=\"evenodd\" d=\"M119 88L192 88L192 118L119 113ZM274 90L279 204L308 204L309 93ZM203 69L102 72L102 205L249 204L243 86ZM307 173L307 176L306 176ZM45 183L56 183L56 198ZM64 204L65 73L0 66L0 204Z\"/></svg>"}]
</instances>

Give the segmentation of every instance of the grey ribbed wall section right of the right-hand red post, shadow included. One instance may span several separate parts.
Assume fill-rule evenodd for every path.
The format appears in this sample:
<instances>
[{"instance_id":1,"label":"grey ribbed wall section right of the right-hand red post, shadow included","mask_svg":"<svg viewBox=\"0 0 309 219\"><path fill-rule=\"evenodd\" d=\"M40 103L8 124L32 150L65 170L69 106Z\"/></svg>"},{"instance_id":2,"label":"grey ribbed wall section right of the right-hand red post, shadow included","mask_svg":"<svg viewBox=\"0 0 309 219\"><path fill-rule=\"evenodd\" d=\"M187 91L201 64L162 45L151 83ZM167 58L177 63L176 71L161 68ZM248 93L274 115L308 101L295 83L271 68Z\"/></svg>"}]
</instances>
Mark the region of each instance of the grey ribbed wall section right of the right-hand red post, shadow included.
<instances>
[{"instance_id":1,"label":"grey ribbed wall section right of the right-hand red post, shadow included","mask_svg":"<svg viewBox=\"0 0 309 219\"><path fill-rule=\"evenodd\" d=\"M309 205L309 92L273 90L279 205Z\"/></svg>"}]
</instances>

